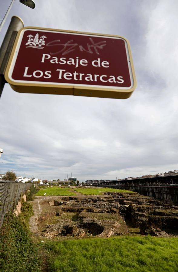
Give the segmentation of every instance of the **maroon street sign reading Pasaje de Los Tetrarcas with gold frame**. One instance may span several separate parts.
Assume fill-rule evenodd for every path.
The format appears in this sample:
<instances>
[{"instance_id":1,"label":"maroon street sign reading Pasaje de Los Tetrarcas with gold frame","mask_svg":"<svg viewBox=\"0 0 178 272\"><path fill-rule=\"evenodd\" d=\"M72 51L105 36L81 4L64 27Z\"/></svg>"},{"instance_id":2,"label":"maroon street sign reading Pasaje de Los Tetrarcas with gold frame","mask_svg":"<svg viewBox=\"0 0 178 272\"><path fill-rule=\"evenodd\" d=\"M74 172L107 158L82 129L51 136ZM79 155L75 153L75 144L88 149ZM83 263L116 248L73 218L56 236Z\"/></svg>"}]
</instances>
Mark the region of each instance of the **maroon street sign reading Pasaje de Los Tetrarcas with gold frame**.
<instances>
[{"instance_id":1,"label":"maroon street sign reading Pasaje de Los Tetrarcas with gold frame","mask_svg":"<svg viewBox=\"0 0 178 272\"><path fill-rule=\"evenodd\" d=\"M36 27L18 32L5 79L26 93L124 99L136 88L124 37Z\"/></svg>"}]
</instances>

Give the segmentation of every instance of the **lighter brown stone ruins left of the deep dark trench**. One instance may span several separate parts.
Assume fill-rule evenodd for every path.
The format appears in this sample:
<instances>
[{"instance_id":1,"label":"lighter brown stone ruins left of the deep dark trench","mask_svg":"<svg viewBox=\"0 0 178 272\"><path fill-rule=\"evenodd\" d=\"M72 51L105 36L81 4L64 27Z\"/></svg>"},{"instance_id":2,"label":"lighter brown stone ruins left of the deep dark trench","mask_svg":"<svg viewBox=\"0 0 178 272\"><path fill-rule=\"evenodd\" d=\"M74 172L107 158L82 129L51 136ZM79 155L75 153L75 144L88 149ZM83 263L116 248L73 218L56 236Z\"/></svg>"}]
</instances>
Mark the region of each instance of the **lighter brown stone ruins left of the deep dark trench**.
<instances>
[{"instance_id":1,"label":"lighter brown stone ruins left of the deep dark trench","mask_svg":"<svg viewBox=\"0 0 178 272\"><path fill-rule=\"evenodd\" d=\"M49 205L60 206L59 216L63 212L77 212L78 221L59 219L57 224L46 225L42 236L110 237L128 234L124 216L120 215L119 203L114 199L62 197L61 201L54 199Z\"/></svg>"}]
</instances>

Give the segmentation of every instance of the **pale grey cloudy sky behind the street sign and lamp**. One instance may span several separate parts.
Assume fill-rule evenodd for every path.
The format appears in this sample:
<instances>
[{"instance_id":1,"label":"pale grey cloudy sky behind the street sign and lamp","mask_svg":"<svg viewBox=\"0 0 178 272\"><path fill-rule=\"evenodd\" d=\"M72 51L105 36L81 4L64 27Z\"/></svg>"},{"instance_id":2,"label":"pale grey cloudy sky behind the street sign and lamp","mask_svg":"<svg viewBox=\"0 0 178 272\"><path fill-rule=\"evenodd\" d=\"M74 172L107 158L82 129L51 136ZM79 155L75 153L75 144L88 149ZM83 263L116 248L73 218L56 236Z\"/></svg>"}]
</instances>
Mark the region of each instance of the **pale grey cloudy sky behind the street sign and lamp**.
<instances>
[{"instance_id":1,"label":"pale grey cloudy sky behind the street sign and lamp","mask_svg":"<svg viewBox=\"0 0 178 272\"><path fill-rule=\"evenodd\" d=\"M22 94L0 99L0 173L80 181L178 169L178 1L16 0L25 26L114 34L130 41L137 89L129 99ZM11 0L0 0L2 20Z\"/></svg>"}]
</instances>

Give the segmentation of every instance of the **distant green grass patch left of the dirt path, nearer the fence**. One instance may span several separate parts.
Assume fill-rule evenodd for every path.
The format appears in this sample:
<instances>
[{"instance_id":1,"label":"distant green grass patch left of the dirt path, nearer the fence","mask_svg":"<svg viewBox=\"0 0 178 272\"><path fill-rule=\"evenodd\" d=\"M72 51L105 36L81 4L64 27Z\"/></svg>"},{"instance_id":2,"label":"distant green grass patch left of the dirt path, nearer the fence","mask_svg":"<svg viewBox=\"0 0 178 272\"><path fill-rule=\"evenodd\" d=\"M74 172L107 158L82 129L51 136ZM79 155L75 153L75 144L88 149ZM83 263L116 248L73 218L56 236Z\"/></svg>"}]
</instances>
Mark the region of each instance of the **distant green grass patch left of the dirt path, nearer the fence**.
<instances>
[{"instance_id":1,"label":"distant green grass patch left of the dirt path, nearer the fence","mask_svg":"<svg viewBox=\"0 0 178 272\"><path fill-rule=\"evenodd\" d=\"M40 189L35 196L44 196L44 193L46 193L46 196L75 196L75 193L71 192L69 188L61 188L57 186Z\"/></svg>"}]
</instances>

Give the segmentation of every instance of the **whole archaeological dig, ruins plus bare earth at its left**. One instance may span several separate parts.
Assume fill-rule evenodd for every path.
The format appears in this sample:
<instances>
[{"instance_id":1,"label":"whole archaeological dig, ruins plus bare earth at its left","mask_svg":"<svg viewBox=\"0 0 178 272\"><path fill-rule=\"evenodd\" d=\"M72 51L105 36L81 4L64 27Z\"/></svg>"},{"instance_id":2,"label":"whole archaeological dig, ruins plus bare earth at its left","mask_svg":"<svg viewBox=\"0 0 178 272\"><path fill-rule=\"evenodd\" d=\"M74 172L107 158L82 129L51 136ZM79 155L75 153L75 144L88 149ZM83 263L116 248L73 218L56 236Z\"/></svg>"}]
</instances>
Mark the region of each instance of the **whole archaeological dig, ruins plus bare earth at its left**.
<instances>
[{"instance_id":1,"label":"whole archaeological dig, ruins plus bare earth at its left","mask_svg":"<svg viewBox=\"0 0 178 272\"><path fill-rule=\"evenodd\" d=\"M178 235L178 206L138 193L37 196L31 203L31 231L42 239Z\"/></svg>"}]
</instances>

